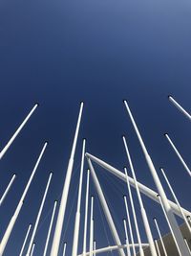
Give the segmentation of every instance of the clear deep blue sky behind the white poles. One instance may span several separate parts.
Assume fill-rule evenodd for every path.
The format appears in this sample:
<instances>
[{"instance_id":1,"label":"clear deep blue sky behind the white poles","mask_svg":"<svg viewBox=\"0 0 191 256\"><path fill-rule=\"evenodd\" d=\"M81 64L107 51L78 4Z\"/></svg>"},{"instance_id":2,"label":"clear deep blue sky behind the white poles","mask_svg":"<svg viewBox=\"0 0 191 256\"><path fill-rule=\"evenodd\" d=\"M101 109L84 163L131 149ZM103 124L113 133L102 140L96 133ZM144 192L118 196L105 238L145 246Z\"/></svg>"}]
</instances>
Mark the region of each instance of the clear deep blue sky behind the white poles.
<instances>
[{"instance_id":1,"label":"clear deep blue sky behind the white poles","mask_svg":"<svg viewBox=\"0 0 191 256\"><path fill-rule=\"evenodd\" d=\"M172 94L185 109L191 109L190 45L190 0L1 0L1 149L32 105L38 102L40 106L0 162L0 195L11 175L17 174L0 209L0 238L43 143L49 141L5 256L18 255L27 227L35 220L48 175L53 171L53 182L35 238L34 255L42 255L53 200L59 200L66 174L80 101L84 101L85 106L62 237L62 241L68 242L67 256L71 255L83 137L87 138L87 151L122 171L123 166L128 165L121 139L125 134L138 180L156 189L123 99L131 106L158 172L163 166L182 206L191 209L190 180L163 136L164 132L169 133L191 166L190 123L167 100L167 95ZM85 167L87 169L87 164ZM124 242L125 184L96 165L95 168ZM92 181L91 195L96 196ZM142 241L146 242L135 193L134 196ZM153 217L159 219L162 233L168 232L159 206L145 197L143 202L154 236L157 237ZM82 216L83 213L84 190ZM96 199L97 247L114 244L101 216ZM82 233L81 228L79 252Z\"/></svg>"}]
</instances>

